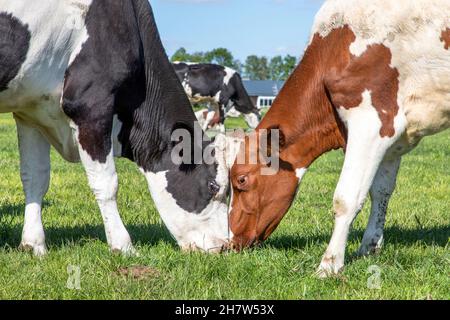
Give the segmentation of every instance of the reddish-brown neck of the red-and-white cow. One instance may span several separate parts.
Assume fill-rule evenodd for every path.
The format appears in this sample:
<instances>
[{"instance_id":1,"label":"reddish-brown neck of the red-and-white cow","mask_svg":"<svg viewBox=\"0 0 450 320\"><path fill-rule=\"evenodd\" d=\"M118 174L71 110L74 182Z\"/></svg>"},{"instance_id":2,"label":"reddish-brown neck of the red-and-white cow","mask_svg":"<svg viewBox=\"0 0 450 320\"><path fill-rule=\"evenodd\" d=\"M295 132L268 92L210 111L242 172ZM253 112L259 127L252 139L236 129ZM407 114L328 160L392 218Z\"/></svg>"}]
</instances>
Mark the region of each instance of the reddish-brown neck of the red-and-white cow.
<instances>
[{"instance_id":1,"label":"reddish-brown neck of the red-and-white cow","mask_svg":"<svg viewBox=\"0 0 450 320\"><path fill-rule=\"evenodd\" d=\"M347 28L325 38L315 35L304 58L286 82L259 128L279 126L286 138L281 159L308 168L322 154L345 148L346 130L333 107L324 79L348 63L353 34Z\"/></svg>"}]
</instances>

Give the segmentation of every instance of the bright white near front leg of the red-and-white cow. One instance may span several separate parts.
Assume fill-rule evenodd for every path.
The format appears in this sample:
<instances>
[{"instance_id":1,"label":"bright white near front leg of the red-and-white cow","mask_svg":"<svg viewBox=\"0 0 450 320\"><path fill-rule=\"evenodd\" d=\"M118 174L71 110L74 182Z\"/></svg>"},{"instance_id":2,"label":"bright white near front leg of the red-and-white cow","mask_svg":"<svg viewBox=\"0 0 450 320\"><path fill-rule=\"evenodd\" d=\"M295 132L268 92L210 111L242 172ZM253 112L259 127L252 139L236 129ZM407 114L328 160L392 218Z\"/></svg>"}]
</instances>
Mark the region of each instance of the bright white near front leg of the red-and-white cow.
<instances>
[{"instance_id":1,"label":"bright white near front leg of the red-and-white cow","mask_svg":"<svg viewBox=\"0 0 450 320\"><path fill-rule=\"evenodd\" d=\"M387 150L404 132L406 120L398 115L395 134L381 136L382 123L374 111L369 92L357 108L339 110L347 123L348 141L344 166L337 185L333 207L333 235L318 269L320 277L337 274L344 267L345 247L351 225L364 205L378 168Z\"/></svg>"}]
</instances>

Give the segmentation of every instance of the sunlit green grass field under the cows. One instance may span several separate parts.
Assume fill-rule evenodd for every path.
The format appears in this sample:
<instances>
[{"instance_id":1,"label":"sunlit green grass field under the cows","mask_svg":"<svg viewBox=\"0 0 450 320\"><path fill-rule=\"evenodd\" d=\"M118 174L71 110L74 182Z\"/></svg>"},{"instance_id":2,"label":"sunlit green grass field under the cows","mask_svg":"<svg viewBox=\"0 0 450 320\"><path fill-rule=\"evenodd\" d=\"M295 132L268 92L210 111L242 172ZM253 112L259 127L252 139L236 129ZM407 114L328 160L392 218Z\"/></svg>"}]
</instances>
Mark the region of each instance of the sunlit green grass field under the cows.
<instances>
[{"instance_id":1,"label":"sunlit green grass field under the cows","mask_svg":"<svg viewBox=\"0 0 450 320\"><path fill-rule=\"evenodd\" d=\"M10 116L0 116L0 141L1 299L450 299L449 131L426 139L404 158L382 253L354 255L368 218L366 205L350 236L345 272L328 280L316 279L314 271L332 231L342 152L315 163L295 205L264 246L211 256L178 250L143 177L132 163L119 160L119 207L140 253L132 258L109 252L81 165L53 152L44 207L49 254L37 259L17 250L24 199ZM76 274L68 272L70 266L80 270L79 290L67 286ZM127 268L136 266L147 272L127 275ZM378 289L368 286L377 277Z\"/></svg>"}]
</instances>

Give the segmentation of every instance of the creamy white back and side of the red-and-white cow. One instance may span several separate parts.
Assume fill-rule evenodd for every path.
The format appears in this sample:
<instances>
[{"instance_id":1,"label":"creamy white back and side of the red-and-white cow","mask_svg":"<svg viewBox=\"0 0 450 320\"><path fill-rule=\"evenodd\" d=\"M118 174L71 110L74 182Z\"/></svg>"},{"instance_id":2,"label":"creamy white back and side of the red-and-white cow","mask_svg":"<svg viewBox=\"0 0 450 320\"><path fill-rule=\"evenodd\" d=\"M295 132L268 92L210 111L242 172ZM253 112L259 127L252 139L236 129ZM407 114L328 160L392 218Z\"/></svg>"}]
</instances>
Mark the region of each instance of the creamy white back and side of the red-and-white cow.
<instances>
[{"instance_id":1,"label":"creamy white back and side of the red-and-white cow","mask_svg":"<svg viewBox=\"0 0 450 320\"><path fill-rule=\"evenodd\" d=\"M411 145L450 127L450 1L328 0L316 16L312 37L345 26L355 35L352 57L374 45L389 49Z\"/></svg>"}]
</instances>

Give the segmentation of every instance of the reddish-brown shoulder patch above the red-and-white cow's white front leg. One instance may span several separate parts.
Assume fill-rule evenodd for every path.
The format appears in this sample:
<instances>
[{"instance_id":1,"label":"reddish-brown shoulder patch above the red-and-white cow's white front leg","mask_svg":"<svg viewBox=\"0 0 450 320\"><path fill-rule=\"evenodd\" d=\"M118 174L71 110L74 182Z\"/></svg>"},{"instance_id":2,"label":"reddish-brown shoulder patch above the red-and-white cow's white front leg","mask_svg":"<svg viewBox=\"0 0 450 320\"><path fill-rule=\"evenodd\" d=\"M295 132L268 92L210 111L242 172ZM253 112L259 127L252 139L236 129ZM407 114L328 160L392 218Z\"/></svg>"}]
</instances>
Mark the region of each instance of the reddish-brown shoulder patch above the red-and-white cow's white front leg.
<instances>
[{"instance_id":1,"label":"reddish-brown shoulder patch above the red-and-white cow's white front leg","mask_svg":"<svg viewBox=\"0 0 450 320\"><path fill-rule=\"evenodd\" d=\"M394 136L394 119L399 111L399 73L390 66L391 61L389 48L382 44L371 45L361 56L352 56L344 70L333 70L325 79L336 108L359 107L363 102L363 92L370 91L372 105L381 120L381 137Z\"/></svg>"}]
</instances>

